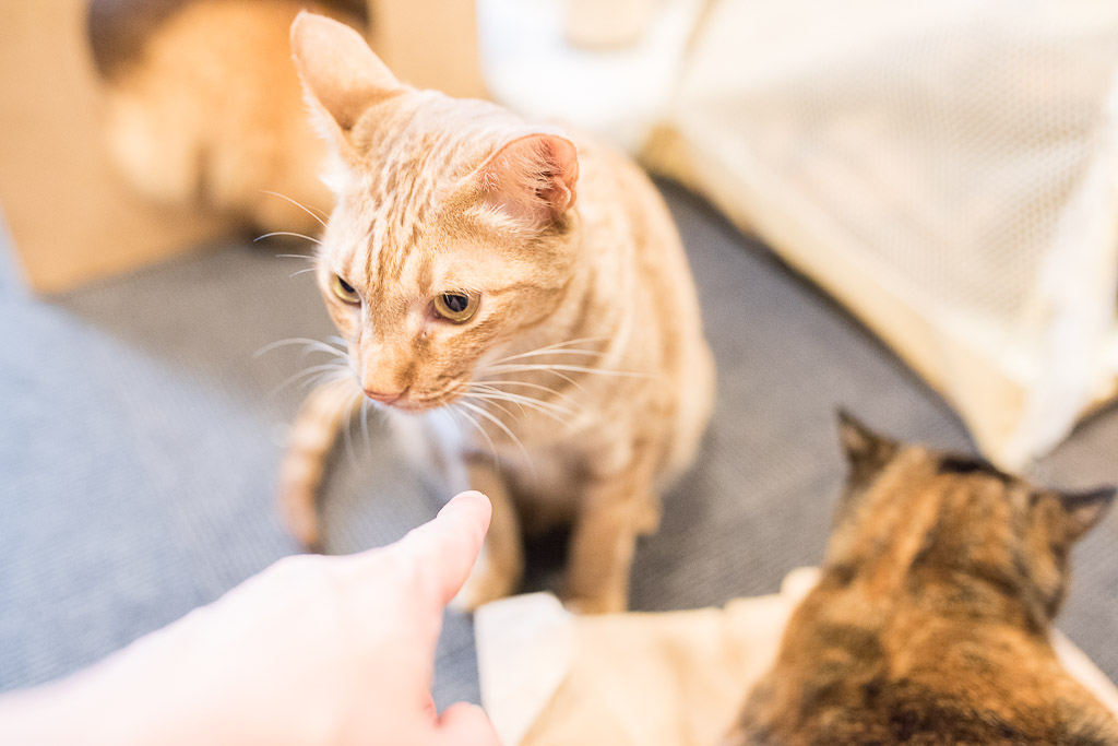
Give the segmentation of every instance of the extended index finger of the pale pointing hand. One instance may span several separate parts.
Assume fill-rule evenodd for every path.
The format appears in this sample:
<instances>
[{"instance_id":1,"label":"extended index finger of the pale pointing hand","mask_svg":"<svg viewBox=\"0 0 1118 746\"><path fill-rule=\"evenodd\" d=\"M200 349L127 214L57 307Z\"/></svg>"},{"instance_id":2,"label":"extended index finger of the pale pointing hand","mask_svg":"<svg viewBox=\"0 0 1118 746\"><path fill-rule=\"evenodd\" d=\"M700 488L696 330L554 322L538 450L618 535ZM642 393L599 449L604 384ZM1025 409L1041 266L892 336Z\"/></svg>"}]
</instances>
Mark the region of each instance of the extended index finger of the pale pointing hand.
<instances>
[{"instance_id":1,"label":"extended index finger of the pale pointing hand","mask_svg":"<svg viewBox=\"0 0 1118 746\"><path fill-rule=\"evenodd\" d=\"M429 573L438 602L445 606L466 582L489 530L493 508L481 492L463 492L400 539L397 549Z\"/></svg>"}]
</instances>

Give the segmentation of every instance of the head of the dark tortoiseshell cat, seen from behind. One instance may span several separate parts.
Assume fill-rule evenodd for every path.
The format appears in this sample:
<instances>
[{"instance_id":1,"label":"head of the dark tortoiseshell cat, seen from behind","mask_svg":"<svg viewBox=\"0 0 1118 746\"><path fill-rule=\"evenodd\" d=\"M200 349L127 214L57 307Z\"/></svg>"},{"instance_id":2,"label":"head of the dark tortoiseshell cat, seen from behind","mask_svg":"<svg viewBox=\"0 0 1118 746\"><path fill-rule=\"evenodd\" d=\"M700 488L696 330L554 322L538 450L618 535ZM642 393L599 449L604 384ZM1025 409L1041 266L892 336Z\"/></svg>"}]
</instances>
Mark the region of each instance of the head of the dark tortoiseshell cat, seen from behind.
<instances>
[{"instance_id":1,"label":"head of the dark tortoiseshell cat, seen from behind","mask_svg":"<svg viewBox=\"0 0 1118 746\"><path fill-rule=\"evenodd\" d=\"M1023 601L1035 624L1051 621L1071 545L1102 518L1114 488L1042 489L982 459L881 437L845 414L840 431L851 471L827 545L833 582L880 596L983 583Z\"/></svg>"}]
</instances>

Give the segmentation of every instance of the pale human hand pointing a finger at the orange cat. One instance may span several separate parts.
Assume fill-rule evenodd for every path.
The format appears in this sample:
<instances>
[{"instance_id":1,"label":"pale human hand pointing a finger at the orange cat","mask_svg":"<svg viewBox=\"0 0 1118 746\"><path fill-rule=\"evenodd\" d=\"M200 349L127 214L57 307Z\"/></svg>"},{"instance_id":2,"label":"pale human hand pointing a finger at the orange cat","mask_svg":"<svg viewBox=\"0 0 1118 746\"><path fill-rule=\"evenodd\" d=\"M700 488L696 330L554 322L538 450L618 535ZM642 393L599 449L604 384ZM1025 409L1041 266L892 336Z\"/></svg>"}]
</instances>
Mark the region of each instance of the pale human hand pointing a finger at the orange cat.
<instances>
[{"instance_id":1,"label":"pale human hand pointing a finger at the orange cat","mask_svg":"<svg viewBox=\"0 0 1118 746\"><path fill-rule=\"evenodd\" d=\"M482 546L479 492L395 545L285 558L59 682L0 697L0 743L498 744L486 715L430 696L443 608Z\"/></svg>"}]
</instances>

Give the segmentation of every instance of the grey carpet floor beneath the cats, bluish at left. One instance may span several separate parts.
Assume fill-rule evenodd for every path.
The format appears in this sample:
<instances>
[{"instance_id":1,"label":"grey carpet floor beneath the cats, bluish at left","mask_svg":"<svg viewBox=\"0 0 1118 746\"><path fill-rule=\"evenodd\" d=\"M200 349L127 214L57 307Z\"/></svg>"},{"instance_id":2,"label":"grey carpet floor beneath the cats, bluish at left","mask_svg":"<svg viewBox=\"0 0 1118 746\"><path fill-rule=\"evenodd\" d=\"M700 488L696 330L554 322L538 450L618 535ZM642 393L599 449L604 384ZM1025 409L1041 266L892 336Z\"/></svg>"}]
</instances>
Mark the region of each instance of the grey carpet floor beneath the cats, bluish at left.
<instances>
[{"instance_id":1,"label":"grey carpet floor beneath the cats, bluish at left","mask_svg":"<svg viewBox=\"0 0 1118 746\"><path fill-rule=\"evenodd\" d=\"M942 400L813 286L671 186L719 362L694 471L638 548L633 606L771 592L817 563L842 480L833 413L969 447ZM304 365L277 339L332 333L304 265L235 244L54 299L29 295L0 242L0 689L86 665L295 550L273 506ZM396 539L432 517L376 427L340 448L329 548ZM1118 481L1118 413L1095 416L1034 475ZM1060 625L1118 677L1118 512L1074 555ZM553 548L552 548L553 549ZM555 551L533 553L533 586ZM551 570L548 567L551 567ZM436 700L476 700L468 620L451 615Z\"/></svg>"}]
</instances>

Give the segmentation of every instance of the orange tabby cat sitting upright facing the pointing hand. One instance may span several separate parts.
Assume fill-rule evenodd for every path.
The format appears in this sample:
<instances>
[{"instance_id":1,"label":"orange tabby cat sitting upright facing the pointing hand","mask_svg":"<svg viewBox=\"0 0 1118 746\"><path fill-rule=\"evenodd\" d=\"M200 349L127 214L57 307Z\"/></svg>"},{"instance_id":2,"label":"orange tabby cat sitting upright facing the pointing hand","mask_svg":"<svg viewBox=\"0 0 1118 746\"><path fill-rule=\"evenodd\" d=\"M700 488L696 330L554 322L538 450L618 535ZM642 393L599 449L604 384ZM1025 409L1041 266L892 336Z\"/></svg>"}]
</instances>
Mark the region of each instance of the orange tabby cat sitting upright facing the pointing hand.
<instances>
[{"instance_id":1,"label":"orange tabby cat sitting upright facing the pointing hand","mask_svg":"<svg viewBox=\"0 0 1118 746\"><path fill-rule=\"evenodd\" d=\"M463 605L517 588L522 519L572 525L572 605L625 608L635 538L713 394L659 192L593 140L401 84L340 23L303 13L292 44L334 153L318 278L350 370L295 423L290 525L318 544L322 463L363 391L428 471L493 501Z\"/></svg>"}]
</instances>

